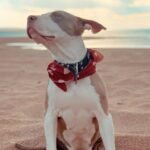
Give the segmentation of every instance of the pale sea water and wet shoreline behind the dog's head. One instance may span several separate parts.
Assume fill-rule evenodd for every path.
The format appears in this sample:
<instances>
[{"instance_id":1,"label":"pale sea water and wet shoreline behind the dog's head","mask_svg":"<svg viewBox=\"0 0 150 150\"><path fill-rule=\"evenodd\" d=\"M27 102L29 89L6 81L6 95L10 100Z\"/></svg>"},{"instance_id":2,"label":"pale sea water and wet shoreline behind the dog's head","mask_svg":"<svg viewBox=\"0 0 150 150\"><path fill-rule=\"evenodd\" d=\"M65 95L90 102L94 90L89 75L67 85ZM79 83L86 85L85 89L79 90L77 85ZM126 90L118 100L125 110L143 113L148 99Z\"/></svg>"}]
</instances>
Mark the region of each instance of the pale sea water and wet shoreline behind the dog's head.
<instances>
[{"instance_id":1,"label":"pale sea water and wet shoreline behind the dog's head","mask_svg":"<svg viewBox=\"0 0 150 150\"><path fill-rule=\"evenodd\" d=\"M0 29L1 37L27 37L23 29ZM92 48L150 48L150 29L106 30L98 34L85 32L86 47ZM24 49L45 50L42 45L33 43L8 43Z\"/></svg>"}]
</instances>

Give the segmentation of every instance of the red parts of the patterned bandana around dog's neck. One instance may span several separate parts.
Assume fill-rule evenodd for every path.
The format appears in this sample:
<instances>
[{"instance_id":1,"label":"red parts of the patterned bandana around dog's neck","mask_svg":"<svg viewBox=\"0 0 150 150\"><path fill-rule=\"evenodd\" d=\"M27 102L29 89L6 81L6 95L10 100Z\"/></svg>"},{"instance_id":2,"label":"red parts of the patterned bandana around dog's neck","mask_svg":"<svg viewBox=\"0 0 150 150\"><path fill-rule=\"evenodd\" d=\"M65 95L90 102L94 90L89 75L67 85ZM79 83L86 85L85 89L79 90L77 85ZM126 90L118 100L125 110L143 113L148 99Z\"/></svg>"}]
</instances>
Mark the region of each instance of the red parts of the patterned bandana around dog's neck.
<instances>
[{"instance_id":1,"label":"red parts of the patterned bandana around dog's neck","mask_svg":"<svg viewBox=\"0 0 150 150\"><path fill-rule=\"evenodd\" d=\"M77 80L88 77L96 72L96 63L103 59L103 55L92 49L88 49L91 60L88 65L79 73ZM51 80L63 91L67 91L67 81L73 81L74 76L73 73L68 70L69 73L65 73L65 69L62 65L60 65L56 60L51 62L48 67L48 75Z\"/></svg>"}]
</instances>

